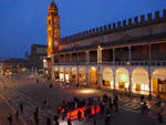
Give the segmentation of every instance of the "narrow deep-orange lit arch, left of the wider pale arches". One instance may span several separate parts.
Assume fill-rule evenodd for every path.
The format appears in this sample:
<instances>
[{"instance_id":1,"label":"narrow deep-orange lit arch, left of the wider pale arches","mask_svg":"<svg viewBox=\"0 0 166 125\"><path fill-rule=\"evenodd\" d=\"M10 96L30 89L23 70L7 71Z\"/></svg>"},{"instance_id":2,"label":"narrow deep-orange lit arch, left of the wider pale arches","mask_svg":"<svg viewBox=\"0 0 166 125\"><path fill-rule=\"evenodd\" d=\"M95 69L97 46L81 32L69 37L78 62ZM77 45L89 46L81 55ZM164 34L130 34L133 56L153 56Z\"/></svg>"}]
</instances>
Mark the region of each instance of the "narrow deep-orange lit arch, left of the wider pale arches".
<instances>
[{"instance_id":1,"label":"narrow deep-orange lit arch, left of the wider pale arches","mask_svg":"<svg viewBox=\"0 0 166 125\"><path fill-rule=\"evenodd\" d=\"M97 85L97 69L95 66L92 66L89 72L90 85Z\"/></svg>"}]
</instances>

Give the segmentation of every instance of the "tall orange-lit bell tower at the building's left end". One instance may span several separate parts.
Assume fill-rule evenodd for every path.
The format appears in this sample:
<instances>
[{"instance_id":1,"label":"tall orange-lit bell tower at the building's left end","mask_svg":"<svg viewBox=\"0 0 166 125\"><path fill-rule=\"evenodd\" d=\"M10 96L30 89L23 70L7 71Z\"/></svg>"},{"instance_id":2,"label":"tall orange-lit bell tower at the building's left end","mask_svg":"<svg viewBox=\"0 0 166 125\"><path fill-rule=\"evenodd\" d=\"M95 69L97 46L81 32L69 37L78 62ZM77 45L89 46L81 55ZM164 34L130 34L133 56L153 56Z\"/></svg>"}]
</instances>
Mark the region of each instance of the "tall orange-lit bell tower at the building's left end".
<instances>
[{"instance_id":1,"label":"tall orange-lit bell tower at the building's left end","mask_svg":"<svg viewBox=\"0 0 166 125\"><path fill-rule=\"evenodd\" d=\"M53 53L59 50L60 43L60 17L54 0L49 6L48 15L48 77L51 79Z\"/></svg>"}]
</instances>

